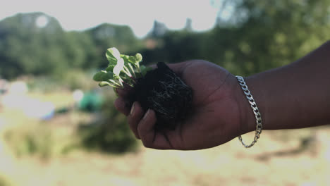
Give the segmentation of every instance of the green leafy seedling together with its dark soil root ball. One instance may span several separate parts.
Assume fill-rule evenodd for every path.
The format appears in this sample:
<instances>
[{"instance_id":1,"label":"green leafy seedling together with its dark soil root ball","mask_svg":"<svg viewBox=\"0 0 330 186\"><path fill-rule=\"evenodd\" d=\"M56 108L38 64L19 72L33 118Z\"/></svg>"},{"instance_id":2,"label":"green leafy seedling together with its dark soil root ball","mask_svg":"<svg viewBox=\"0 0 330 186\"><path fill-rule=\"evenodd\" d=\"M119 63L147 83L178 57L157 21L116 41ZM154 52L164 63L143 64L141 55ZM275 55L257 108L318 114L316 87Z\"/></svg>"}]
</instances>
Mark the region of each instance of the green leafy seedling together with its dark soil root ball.
<instances>
[{"instance_id":1,"label":"green leafy seedling together with its dark soil root ball","mask_svg":"<svg viewBox=\"0 0 330 186\"><path fill-rule=\"evenodd\" d=\"M153 109L157 115L156 128L174 129L189 113L193 91L165 63L157 68L140 65L141 54L127 56L118 49L106 51L109 66L93 77L100 87L129 89L128 102L138 101L142 109Z\"/></svg>"}]
</instances>

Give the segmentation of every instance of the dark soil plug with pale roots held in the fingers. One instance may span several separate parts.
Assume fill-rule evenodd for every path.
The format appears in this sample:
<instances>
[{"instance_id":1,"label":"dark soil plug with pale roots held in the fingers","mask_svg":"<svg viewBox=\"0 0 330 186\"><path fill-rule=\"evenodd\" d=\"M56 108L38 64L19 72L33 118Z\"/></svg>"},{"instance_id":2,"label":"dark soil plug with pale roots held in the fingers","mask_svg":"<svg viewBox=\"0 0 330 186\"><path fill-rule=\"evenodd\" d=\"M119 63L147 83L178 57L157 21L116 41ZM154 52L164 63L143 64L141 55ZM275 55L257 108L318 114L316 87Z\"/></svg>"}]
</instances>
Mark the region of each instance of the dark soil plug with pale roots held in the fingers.
<instances>
[{"instance_id":1,"label":"dark soil plug with pale roots held in the fingers","mask_svg":"<svg viewBox=\"0 0 330 186\"><path fill-rule=\"evenodd\" d=\"M190 111L193 90L185 85L165 63L139 78L130 94L130 103L138 101L142 109L153 109L157 129L175 129Z\"/></svg>"}]
</instances>

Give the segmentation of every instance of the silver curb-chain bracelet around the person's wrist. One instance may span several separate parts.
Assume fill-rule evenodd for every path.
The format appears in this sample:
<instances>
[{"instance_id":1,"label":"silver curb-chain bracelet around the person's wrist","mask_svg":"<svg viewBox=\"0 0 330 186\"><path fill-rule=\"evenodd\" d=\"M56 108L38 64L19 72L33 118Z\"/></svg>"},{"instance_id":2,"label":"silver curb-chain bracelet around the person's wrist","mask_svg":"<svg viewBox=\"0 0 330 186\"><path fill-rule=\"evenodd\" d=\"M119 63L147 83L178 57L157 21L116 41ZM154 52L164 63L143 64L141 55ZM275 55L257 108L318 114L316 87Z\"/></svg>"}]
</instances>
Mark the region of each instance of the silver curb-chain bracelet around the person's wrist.
<instances>
[{"instance_id":1,"label":"silver curb-chain bracelet around the person's wrist","mask_svg":"<svg viewBox=\"0 0 330 186\"><path fill-rule=\"evenodd\" d=\"M243 146L245 148L250 148L258 141L260 134L262 132L262 118L261 118L259 109L257 107L257 104L255 103L255 99L253 99L250 90L247 88L244 78L239 75L236 75L236 78L237 78L238 82L240 82L240 87L243 89L243 92L244 92L247 100L250 103L253 113L255 113L255 119L256 119L256 123L257 123L257 128L255 129L255 139L253 140L253 142L251 144L249 144L249 145L245 144L242 140L242 136L238 136L238 140L240 140L240 142L243 144Z\"/></svg>"}]
</instances>

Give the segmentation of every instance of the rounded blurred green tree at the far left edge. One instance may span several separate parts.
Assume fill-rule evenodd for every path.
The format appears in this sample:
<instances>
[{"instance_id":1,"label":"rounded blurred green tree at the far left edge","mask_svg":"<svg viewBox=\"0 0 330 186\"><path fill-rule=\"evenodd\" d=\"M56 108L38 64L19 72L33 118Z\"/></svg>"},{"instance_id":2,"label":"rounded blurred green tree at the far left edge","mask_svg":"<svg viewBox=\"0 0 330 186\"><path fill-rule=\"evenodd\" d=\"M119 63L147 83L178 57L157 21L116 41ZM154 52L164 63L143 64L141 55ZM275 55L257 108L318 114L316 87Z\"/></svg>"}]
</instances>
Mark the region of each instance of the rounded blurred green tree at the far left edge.
<instances>
[{"instance_id":1,"label":"rounded blurred green tree at the far left edge","mask_svg":"<svg viewBox=\"0 0 330 186\"><path fill-rule=\"evenodd\" d=\"M0 23L0 73L4 77L25 74L47 74L64 55L61 42L65 42L61 26L49 17L49 24L39 28L33 23L42 13L18 14ZM51 44L50 44L51 43Z\"/></svg>"}]
</instances>

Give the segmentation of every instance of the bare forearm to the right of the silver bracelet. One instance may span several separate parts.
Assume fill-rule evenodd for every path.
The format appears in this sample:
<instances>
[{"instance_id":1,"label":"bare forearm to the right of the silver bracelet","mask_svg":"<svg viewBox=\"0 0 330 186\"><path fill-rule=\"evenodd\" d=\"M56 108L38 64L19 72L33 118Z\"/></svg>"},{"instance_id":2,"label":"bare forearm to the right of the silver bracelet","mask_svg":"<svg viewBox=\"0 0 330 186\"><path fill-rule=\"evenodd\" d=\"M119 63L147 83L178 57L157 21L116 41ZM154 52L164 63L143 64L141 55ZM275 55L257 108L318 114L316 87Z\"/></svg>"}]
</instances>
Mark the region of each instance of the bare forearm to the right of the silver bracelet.
<instances>
[{"instance_id":1,"label":"bare forearm to the right of the silver bracelet","mask_svg":"<svg viewBox=\"0 0 330 186\"><path fill-rule=\"evenodd\" d=\"M330 42L288 66L252 75L245 81L262 113L264 129L330 123ZM248 110L248 125L254 130L254 115Z\"/></svg>"}]
</instances>

